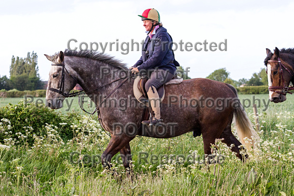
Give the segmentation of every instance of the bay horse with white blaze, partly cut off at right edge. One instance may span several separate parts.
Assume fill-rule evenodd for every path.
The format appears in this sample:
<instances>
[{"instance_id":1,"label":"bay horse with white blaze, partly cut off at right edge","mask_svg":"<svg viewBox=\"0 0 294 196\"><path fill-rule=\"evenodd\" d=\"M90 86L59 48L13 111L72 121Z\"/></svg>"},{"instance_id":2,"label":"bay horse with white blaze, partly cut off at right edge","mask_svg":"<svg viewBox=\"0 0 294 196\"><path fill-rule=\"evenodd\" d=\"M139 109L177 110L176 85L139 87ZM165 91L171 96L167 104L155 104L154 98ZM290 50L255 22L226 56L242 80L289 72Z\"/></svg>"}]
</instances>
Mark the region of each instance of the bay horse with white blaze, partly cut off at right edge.
<instances>
[{"instance_id":1,"label":"bay horse with white blaze, partly cut off at right edge","mask_svg":"<svg viewBox=\"0 0 294 196\"><path fill-rule=\"evenodd\" d=\"M274 103L286 100L286 94L290 93L294 87L290 86L290 82L294 84L294 49L281 49L276 47L274 54L270 49L266 49L267 57L264 63L267 67L269 83L269 99Z\"/></svg>"}]
</instances>

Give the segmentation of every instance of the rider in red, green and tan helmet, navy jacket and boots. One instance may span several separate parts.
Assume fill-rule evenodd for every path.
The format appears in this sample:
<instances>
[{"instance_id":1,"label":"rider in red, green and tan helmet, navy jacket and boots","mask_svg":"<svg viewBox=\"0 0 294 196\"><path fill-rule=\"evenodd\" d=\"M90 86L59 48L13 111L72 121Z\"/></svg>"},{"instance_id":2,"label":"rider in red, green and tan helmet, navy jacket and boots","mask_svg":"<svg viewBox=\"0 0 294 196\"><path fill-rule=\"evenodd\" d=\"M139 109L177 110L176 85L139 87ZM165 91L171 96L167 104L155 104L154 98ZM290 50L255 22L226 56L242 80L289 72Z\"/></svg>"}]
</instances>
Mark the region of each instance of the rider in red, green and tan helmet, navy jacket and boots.
<instances>
[{"instance_id":1,"label":"rider in red, green and tan helmet, navy jacket and boots","mask_svg":"<svg viewBox=\"0 0 294 196\"><path fill-rule=\"evenodd\" d=\"M147 9L138 16L141 17L148 36L142 46L141 58L131 68L132 72L154 70L145 84L145 90L154 112L151 124L156 125L160 120L160 99L157 89L170 81L176 72L171 49L172 39L162 26L157 10ZM149 125L150 121L143 121L142 124Z\"/></svg>"}]
</instances>

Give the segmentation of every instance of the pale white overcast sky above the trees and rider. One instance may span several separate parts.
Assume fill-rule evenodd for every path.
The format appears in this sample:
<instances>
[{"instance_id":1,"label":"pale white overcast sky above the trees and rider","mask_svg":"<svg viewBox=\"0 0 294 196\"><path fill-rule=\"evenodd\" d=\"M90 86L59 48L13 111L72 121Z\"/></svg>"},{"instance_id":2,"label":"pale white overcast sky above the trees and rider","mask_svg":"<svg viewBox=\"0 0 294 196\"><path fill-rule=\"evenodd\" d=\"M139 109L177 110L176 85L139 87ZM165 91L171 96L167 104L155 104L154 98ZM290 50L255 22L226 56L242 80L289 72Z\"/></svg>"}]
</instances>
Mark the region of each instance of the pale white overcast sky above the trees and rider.
<instances>
[{"instance_id":1,"label":"pale white overcast sky above the trees and rider","mask_svg":"<svg viewBox=\"0 0 294 196\"><path fill-rule=\"evenodd\" d=\"M51 63L44 54L64 51L70 40L77 42L70 42L69 47L78 50L81 43L84 50L85 43L90 49L90 43L96 42L97 52L103 49L132 66L141 56L141 47L134 44L132 51L132 43L141 43L146 37L137 15L149 8L159 12L163 26L178 46L175 59L184 68L190 67L188 76L192 78L226 68L233 80L250 79L265 67L266 48L293 47L292 1L1 0L0 76L10 76L13 55L25 58L34 51L41 80L47 81ZM183 43L181 50L179 42ZM193 47L189 48L190 43ZM210 44L215 51L210 50Z\"/></svg>"}]
</instances>

